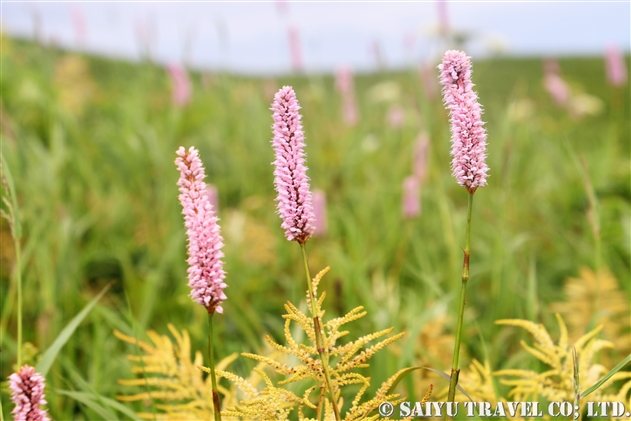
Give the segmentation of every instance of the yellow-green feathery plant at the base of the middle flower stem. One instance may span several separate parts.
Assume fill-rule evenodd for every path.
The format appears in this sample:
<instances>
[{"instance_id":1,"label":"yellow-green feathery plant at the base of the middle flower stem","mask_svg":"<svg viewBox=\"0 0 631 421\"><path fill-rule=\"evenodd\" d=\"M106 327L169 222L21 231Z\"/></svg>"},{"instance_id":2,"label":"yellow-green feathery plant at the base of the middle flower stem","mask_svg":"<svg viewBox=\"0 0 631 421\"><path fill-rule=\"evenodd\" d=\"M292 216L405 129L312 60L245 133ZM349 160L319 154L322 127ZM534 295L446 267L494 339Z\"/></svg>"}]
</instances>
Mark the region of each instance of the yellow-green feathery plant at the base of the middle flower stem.
<instances>
[{"instance_id":1,"label":"yellow-green feathery plant at the base of the middle flower stem","mask_svg":"<svg viewBox=\"0 0 631 421\"><path fill-rule=\"evenodd\" d=\"M314 297L317 297L318 284L328 270L329 268L327 267L320 271L313 279L312 294ZM312 294L307 294L307 300L310 300ZM324 316L322 303L325 295L325 293L322 293L315 302L317 315L320 320ZM293 358L297 363L288 364L280 362L279 358L244 353L245 357L265 363L272 367L276 374L285 376L284 379L274 384L263 370L256 368L255 372L259 373L265 381L265 387L260 391L239 376L217 370L219 377L227 378L233 382L244 395L244 399L238 405L222 411L222 415L262 421L335 419L336 415L333 411L333 405L327 393L328 388L325 383L322 361L318 358L319 352L314 330L314 318L305 315L290 302L285 304L285 310L287 314L283 318L285 319L284 333L286 344L278 344L270 336L266 336L266 339L280 354L289 357L288 360ZM390 392L401 373L398 372L381 385L373 398L362 402L362 398L370 386L370 378L364 376L358 370L367 368L369 366L368 361L375 353L404 335L399 333L389 336L393 330L390 328L362 336L345 344L338 343L340 338L349 334L349 331L342 330L342 327L365 315L366 312L363 310L363 307L357 307L343 317L334 318L323 323L323 329L326 331L324 346L331 357L329 361L330 381L336 393L336 404L340 408L340 412L344 412L344 401L340 396L341 388L349 385L360 386L359 391L355 394L343 416L345 421L378 419L379 414L376 413L376 410L380 403L388 401L395 404L402 401L398 394ZM292 335L292 324L294 323L305 333L308 339L306 344L299 343L299 341L294 339L294 335ZM366 348L370 342L379 338L383 339ZM203 370L209 371L207 368L203 368ZM287 386L298 382L302 382L302 388L304 389L300 395L290 391L289 386ZM297 386L298 388L300 387L300 385ZM292 414L295 410L297 412ZM305 415L308 412L315 415ZM292 414L291 418L289 418L290 414Z\"/></svg>"}]
</instances>

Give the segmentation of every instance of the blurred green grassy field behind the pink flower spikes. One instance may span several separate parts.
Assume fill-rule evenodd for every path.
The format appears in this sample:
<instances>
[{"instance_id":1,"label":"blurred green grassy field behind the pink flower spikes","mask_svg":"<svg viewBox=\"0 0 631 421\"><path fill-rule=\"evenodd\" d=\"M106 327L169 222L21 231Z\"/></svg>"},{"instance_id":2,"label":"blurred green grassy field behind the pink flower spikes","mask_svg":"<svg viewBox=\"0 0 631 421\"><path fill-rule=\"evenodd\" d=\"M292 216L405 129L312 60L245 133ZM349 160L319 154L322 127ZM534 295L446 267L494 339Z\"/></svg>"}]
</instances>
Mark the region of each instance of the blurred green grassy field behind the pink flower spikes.
<instances>
[{"instance_id":1,"label":"blurred green grassy field behind the pink flower spikes","mask_svg":"<svg viewBox=\"0 0 631 421\"><path fill-rule=\"evenodd\" d=\"M192 101L179 108L167 73L150 62L79 56L8 38L2 43L2 154L23 235L17 267L10 224L3 219L0 377L16 368L18 272L23 342L31 344L22 360L33 365L114 281L48 372L54 419L103 419L68 391L110 399L132 393L117 381L135 376L125 357L135 347L117 339L114 329L144 338L148 329L168 334L171 323L190 333L194 350L206 347L206 313L188 297L186 285L173 163L180 145L200 150L206 181L219 191L229 298L224 315L216 317L218 357L265 352L266 333L283 338L283 304L290 300L306 309L300 250L280 228L270 165L269 107L284 85L294 87L302 106L311 186L328 200L329 232L308 242L312 271L331 266L321 287L328 292L325 319L362 305L368 315L349 325L351 339L390 326L407 332L365 369L371 391L403 367L449 371L467 194L449 169L447 112L439 95L423 90L416 69L356 75L360 119L348 127L329 75L193 73ZM477 359L492 370L545 371L520 346L521 339L532 344L531 335L494 322L542 323L556 342L554 309L567 310L571 303L574 309L563 314L570 339L604 323L599 337L617 341L598 354L599 364L608 370L631 352L629 85L609 86L602 58L559 63L574 95L588 95L584 116L551 100L540 58L473 63L490 178L473 208L461 367ZM405 110L401 127L388 124L393 104ZM422 213L406 220L401 186L422 131L430 138ZM582 268L611 275L590 284L590 272ZM577 288L565 287L579 277ZM626 303L626 316L607 313L611 296ZM252 366L239 357L230 369L247 376ZM416 373L401 392L420 400L425 376ZM434 384L436 393L447 385ZM495 387L506 396L506 385L496 379ZM10 419L6 381L1 396ZM151 413L147 401L126 405Z\"/></svg>"}]
</instances>

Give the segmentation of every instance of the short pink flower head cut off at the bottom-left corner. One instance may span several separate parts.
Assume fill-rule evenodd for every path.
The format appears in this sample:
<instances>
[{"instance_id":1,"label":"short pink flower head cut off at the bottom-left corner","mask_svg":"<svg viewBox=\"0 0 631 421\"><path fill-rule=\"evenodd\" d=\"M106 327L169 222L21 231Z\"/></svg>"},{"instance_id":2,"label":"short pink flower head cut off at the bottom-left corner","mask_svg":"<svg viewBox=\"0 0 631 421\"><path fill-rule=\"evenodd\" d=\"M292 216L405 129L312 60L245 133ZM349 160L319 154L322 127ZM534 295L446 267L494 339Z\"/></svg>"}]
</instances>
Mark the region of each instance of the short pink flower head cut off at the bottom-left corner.
<instances>
[{"instance_id":1,"label":"short pink flower head cut off at the bottom-left corner","mask_svg":"<svg viewBox=\"0 0 631 421\"><path fill-rule=\"evenodd\" d=\"M44 377L31 366L24 365L9 376L11 400L15 404L15 421L50 421L47 411L40 408L44 400Z\"/></svg>"}]
</instances>

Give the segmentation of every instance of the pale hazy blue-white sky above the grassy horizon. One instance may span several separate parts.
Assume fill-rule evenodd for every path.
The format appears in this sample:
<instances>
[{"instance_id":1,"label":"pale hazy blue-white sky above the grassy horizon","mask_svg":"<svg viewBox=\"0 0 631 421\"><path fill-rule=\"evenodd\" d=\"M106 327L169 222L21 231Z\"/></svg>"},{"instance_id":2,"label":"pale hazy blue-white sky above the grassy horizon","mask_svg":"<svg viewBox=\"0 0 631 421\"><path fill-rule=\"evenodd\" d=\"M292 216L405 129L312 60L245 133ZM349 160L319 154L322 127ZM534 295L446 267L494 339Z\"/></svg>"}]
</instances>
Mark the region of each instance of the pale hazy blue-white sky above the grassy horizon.
<instances>
[{"instance_id":1,"label":"pale hazy blue-white sky above the grassy horizon","mask_svg":"<svg viewBox=\"0 0 631 421\"><path fill-rule=\"evenodd\" d=\"M629 51L629 1L441 1L3 0L0 22L6 34L65 48L246 74L434 62L447 48L445 25L467 36L463 47L474 59Z\"/></svg>"}]
</instances>

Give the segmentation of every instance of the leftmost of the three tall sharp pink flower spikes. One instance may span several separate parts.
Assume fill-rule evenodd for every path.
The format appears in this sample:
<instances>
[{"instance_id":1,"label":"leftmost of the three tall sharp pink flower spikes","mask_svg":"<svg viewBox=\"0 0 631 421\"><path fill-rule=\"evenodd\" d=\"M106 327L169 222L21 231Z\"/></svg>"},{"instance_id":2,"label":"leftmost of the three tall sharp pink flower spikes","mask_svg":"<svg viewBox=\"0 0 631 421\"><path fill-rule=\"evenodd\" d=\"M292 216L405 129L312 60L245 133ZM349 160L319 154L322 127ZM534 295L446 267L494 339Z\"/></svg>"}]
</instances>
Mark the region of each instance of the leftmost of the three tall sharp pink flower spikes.
<instances>
[{"instance_id":1,"label":"leftmost of the three tall sharp pink flower spikes","mask_svg":"<svg viewBox=\"0 0 631 421\"><path fill-rule=\"evenodd\" d=\"M204 167L194 147L177 150L175 160L180 170L180 203L188 235L188 286L191 297L203 305L209 314L223 313L221 303L227 298L223 270L223 238L219 234L217 217L206 194Z\"/></svg>"}]
</instances>

